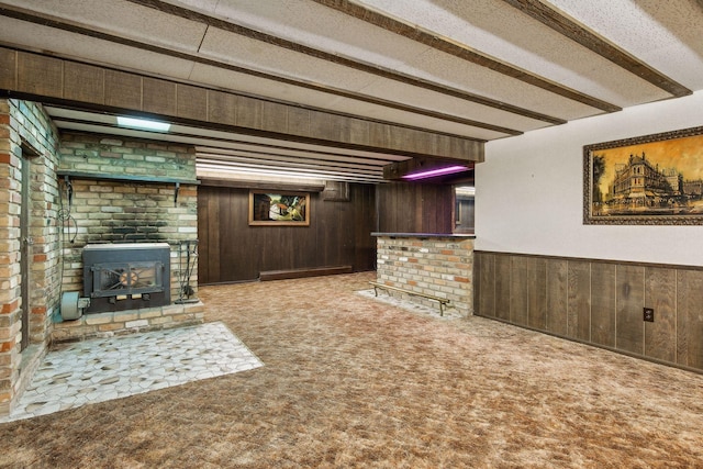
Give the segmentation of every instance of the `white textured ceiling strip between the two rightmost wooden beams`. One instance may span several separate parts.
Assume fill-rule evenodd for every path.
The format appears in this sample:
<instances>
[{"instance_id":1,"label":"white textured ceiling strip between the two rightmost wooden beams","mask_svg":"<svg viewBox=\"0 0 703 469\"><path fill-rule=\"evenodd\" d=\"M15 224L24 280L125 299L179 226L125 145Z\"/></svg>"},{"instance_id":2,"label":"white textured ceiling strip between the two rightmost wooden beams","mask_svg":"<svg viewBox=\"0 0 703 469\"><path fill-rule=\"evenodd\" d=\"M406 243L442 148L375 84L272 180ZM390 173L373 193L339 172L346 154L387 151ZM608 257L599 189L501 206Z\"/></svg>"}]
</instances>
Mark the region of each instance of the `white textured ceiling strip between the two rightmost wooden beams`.
<instances>
[{"instance_id":1,"label":"white textured ceiling strip between the two rightmost wooden beams","mask_svg":"<svg viewBox=\"0 0 703 469\"><path fill-rule=\"evenodd\" d=\"M668 97L644 80L633 80L631 72L580 44L563 41L558 32L501 0L416 1L412 2L414 8L393 0L359 3L411 24L426 24L439 36L621 107L636 104L643 94L652 101Z\"/></svg>"}]
</instances>

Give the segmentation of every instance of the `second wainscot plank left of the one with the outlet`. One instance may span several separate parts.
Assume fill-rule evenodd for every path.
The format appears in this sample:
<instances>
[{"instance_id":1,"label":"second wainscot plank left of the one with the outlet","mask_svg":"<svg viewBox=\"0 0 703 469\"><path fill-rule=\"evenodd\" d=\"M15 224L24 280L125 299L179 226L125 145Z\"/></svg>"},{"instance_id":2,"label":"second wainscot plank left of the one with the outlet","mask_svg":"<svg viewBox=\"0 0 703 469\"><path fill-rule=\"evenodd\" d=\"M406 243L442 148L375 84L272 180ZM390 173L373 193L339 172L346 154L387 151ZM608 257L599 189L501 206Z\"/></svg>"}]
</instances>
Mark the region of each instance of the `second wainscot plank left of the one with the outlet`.
<instances>
[{"instance_id":1,"label":"second wainscot plank left of the one with the outlet","mask_svg":"<svg viewBox=\"0 0 703 469\"><path fill-rule=\"evenodd\" d=\"M615 264L591 264L591 342L615 347Z\"/></svg>"}]
</instances>

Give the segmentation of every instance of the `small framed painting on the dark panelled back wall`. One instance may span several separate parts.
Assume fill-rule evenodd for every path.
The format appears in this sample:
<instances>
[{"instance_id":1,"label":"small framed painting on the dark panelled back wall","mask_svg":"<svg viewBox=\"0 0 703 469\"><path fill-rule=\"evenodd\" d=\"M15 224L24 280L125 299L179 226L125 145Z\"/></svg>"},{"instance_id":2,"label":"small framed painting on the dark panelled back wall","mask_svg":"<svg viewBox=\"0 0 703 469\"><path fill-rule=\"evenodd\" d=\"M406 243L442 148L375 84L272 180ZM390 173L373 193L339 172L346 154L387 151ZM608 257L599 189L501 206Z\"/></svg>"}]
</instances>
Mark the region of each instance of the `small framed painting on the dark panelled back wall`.
<instances>
[{"instance_id":1,"label":"small framed painting on the dark panelled back wall","mask_svg":"<svg viewBox=\"0 0 703 469\"><path fill-rule=\"evenodd\" d=\"M310 193L249 191L249 225L310 226Z\"/></svg>"}]
</instances>

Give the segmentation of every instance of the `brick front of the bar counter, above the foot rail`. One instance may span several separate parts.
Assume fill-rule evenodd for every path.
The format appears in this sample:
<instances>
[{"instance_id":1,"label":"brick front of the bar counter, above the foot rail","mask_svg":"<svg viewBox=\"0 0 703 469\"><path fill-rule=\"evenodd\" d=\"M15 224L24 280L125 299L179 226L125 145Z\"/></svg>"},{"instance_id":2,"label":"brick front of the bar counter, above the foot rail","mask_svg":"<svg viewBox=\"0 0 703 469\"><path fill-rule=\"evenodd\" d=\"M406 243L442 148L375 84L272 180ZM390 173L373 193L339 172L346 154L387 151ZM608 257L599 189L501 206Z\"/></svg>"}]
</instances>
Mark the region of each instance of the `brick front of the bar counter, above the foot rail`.
<instances>
[{"instance_id":1,"label":"brick front of the bar counter, above the foot rail","mask_svg":"<svg viewBox=\"0 0 703 469\"><path fill-rule=\"evenodd\" d=\"M381 235L376 264L380 283L446 298L459 314L473 314L472 237ZM408 300L437 304L416 295L408 295Z\"/></svg>"}]
</instances>

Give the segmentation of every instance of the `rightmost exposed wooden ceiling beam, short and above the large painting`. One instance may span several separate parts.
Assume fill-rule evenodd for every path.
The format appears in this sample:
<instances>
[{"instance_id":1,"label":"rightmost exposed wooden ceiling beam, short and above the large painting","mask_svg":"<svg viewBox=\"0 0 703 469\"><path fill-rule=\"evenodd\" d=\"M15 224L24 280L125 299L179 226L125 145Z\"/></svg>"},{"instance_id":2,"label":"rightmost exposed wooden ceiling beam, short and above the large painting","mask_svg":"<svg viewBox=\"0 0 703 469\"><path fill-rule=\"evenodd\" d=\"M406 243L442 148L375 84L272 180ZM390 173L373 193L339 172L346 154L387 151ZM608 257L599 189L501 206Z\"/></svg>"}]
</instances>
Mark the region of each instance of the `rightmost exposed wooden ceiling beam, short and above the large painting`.
<instances>
[{"instance_id":1,"label":"rightmost exposed wooden ceiling beam, short and above the large painting","mask_svg":"<svg viewBox=\"0 0 703 469\"><path fill-rule=\"evenodd\" d=\"M651 85L680 98L692 91L539 0L503 0ZM701 0L699 0L699 3Z\"/></svg>"}]
</instances>

